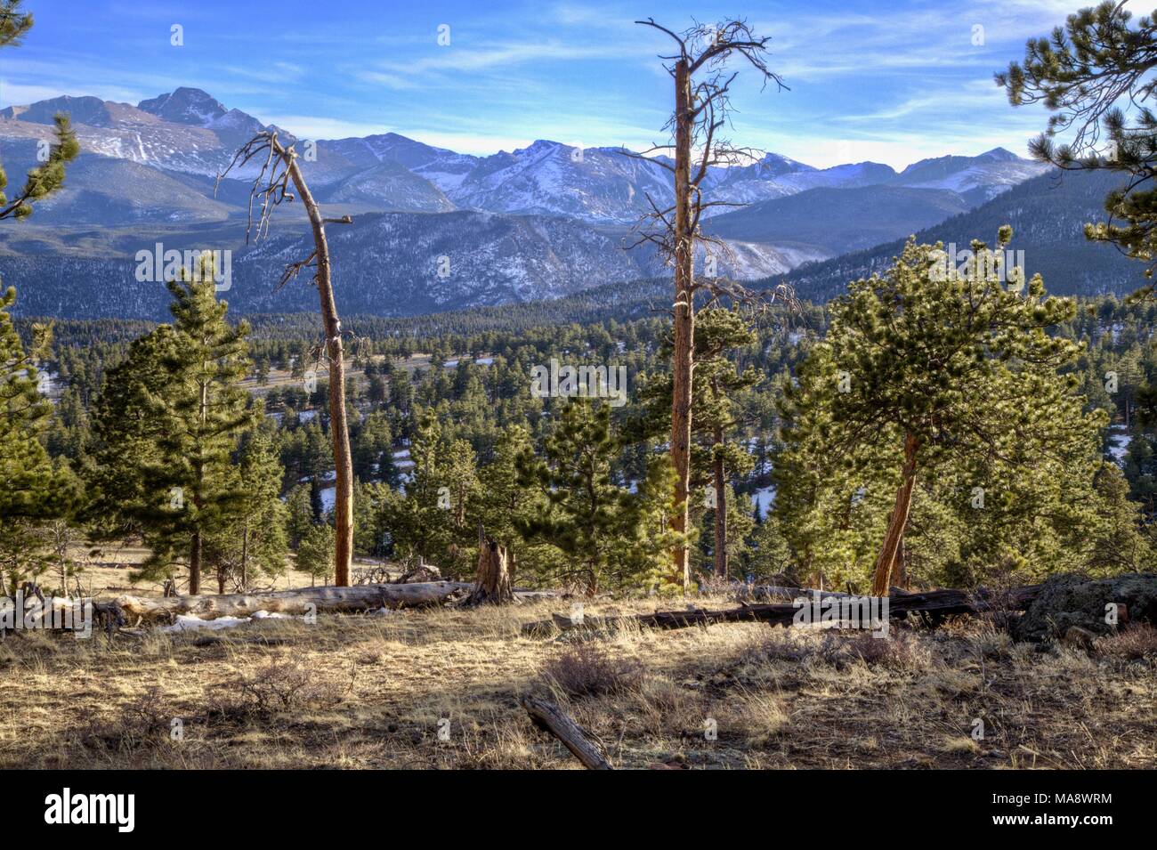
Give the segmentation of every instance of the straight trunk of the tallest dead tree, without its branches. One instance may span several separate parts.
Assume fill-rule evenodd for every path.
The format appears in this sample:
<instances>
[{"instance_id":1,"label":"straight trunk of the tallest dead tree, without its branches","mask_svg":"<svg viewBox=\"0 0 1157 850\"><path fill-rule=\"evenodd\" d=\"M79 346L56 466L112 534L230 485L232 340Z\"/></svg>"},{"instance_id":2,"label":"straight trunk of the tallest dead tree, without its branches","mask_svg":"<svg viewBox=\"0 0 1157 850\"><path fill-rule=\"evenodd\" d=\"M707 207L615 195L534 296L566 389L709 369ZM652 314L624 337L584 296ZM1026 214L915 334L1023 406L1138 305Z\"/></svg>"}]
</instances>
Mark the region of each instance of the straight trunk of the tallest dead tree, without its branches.
<instances>
[{"instance_id":1,"label":"straight trunk of the tallest dead tree, without its branches","mask_svg":"<svg viewBox=\"0 0 1157 850\"><path fill-rule=\"evenodd\" d=\"M687 495L691 485L691 374L695 345L695 313L692 293L694 250L691 232L691 71L685 59L675 66L675 327L671 372L671 465L675 467L675 511L671 527L687 531ZM691 590L691 564L686 546L672 553L672 571Z\"/></svg>"}]
</instances>

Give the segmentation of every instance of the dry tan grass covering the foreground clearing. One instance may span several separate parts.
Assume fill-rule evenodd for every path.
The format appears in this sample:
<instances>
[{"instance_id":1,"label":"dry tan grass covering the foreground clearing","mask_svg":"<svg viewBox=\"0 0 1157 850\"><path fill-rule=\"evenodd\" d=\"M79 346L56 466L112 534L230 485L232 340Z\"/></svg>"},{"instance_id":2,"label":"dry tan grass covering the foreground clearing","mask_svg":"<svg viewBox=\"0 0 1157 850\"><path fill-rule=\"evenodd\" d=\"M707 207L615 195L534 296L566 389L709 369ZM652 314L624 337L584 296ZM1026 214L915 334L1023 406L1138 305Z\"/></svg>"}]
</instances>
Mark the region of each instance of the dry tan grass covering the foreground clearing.
<instances>
[{"instance_id":1,"label":"dry tan grass covering the foreground clearing","mask_svg":"<svg viewBox=\"0 0 1157 850\"><path fill-rule=\"evenodd\" d=\"M575 645L519 633L565 608L264 621L207 644L17 633L0 643L0 767L576 767L518 707L528 690L620 768L1157 767L1151 658L1040 652L977 622L893 629L906 643L886 650L746 623L622 628L590 644L621 681L570 696L550 673Z\"/></svg>"}]
</instances>

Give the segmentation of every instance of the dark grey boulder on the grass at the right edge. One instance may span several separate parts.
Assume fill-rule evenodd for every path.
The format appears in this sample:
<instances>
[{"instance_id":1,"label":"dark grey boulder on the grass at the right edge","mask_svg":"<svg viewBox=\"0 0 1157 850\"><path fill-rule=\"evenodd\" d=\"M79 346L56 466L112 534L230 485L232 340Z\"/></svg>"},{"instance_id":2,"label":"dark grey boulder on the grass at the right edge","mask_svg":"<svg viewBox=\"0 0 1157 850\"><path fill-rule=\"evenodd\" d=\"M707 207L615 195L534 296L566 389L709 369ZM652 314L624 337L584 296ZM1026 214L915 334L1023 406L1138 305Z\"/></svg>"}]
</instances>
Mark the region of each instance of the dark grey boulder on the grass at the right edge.
<instances>
[{"instance_id":1,"label":"dark grey boulder on the grass at the right edge","mask_svg":"<svg viewBox=\"0 0 1157 850\"><path fill-rule=\"evenodd\" d=\"M1096 635L1108 634L1115 628L1105 620L1110 603L1125 606L1121 624L1126 615L1129 622L1157 622L1157 574L1126 572L1093 581L1071 574L1053 576L1016 623L1016 640L1057 638L1074 626Z\"/></svg>"}]
</instances>

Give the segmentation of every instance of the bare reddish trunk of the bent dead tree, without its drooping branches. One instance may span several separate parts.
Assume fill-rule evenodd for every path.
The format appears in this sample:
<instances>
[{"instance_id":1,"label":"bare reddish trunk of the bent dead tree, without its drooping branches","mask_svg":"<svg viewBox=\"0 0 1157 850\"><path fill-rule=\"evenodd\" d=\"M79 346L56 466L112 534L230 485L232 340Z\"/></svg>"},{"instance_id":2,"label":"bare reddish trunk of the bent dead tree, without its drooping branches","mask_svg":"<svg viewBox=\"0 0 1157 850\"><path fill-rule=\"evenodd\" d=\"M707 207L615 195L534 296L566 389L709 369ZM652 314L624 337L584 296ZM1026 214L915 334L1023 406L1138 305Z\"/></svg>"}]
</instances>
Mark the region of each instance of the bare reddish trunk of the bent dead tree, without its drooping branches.
<instances>
[{"instance_id":1,"label":"bare reddish trunk of the bent dead tree, without its drooping branches","mask_svg":"<svg viewBox=\"0 0 1157 850\"><path fill-rule=\"evenodd\" d=\"M317 294L322 303L322 324L325 327L325 350L330 360L330 434L333 437L333 464L337 472L334 483L333 530L334 530L334 583L340 587L349 585L349 566L354 552L353 523L353 460L349 454L349 428L346 422L346 364L341 345L341 323L333 301L333 283L330 278L330 246L325 241L325 222L317 208L314 195L302 177L295 158L289 158L289 177L301 195L309 224L314 230L317 249Z\"/></svg>"}]
</instances>

